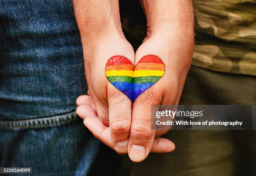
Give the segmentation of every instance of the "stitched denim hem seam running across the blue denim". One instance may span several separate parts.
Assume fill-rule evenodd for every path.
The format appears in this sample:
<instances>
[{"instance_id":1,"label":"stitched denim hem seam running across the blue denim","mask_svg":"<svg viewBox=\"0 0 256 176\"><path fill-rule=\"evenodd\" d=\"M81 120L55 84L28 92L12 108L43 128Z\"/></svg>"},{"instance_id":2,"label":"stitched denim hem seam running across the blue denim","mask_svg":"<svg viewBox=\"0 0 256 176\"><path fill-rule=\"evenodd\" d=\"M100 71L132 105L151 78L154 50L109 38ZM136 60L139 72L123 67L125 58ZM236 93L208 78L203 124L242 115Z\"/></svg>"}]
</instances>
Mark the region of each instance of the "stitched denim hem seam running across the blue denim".
<instances>
[{"instance_id":1,"label":"stitched denim hem seam running across the blue denim","mask_svg":"<svg viewBox=\"0 0 256 176\"><path fill-rule=\"evenodd\" d=\"M64 114L54 117L44 117L38 119L27 119L19 121L0 121L0 129L28 129L28 128L40 128L40 127L49 127L56 126L60 124L67 124L72 121L79 119L75 112L69 114Z\"/></svg>"}]
</instances>

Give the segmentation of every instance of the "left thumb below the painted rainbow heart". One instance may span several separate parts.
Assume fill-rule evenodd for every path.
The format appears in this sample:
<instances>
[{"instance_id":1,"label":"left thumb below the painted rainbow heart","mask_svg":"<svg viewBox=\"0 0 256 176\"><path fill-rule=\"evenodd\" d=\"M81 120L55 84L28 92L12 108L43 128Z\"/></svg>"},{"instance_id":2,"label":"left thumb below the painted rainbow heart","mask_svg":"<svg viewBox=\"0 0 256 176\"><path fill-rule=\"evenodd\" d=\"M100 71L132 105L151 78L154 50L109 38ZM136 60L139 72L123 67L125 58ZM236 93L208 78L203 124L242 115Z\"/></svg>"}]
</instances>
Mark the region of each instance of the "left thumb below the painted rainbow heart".
<instances>
[{"instance_id":1,"label":"left thumb below the painted rainbow heart","mask_svg":"<svg viewBox=\"0 0 256 176\"><path fill-rule=\"evenodd\" d=\"M132 83L130 85L132 87ZM131 129L131 99L108 82L110 135L119 153L127 153Z\"/></svg>"}]
</instances>

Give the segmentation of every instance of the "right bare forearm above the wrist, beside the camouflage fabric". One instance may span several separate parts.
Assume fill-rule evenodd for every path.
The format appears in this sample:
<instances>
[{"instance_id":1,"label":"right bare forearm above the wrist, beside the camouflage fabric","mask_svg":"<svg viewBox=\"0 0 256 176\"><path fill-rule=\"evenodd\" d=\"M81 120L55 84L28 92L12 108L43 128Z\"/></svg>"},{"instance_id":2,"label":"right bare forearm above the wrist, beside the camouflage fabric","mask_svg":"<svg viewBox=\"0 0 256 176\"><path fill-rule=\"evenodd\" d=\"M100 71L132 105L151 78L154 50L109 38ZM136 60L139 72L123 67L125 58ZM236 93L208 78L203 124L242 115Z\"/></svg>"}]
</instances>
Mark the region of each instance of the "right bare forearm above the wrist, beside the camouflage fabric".
<instances>
[{"instance_id":1,"label":"right bare forearm above the wrist, beside the camouflage fabric","mask_svg":"<svg viewBox=\"0 0 256 176\"><path fill-rule=\"evenodd\" d=\"M147 18L148 37L164 28L181 32L184 30L184 35L193 36L194 14L191 0L141 0L141 5Z\"/></svg>"}]
</instances>

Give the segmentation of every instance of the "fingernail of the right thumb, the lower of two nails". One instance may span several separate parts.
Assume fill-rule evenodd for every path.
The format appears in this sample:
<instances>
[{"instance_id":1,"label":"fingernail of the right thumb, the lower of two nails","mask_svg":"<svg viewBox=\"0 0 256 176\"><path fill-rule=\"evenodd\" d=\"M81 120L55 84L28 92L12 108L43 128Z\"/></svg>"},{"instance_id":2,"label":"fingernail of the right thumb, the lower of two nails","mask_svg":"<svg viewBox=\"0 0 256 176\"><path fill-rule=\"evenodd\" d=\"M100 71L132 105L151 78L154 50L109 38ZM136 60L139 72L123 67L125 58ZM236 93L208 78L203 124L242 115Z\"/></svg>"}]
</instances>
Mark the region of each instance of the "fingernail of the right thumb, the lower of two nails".
<instances>
[{"instance_id":1,"label":"fingernail of the right thumb, the lower of two nails","mask_svg":"<svg viewBox=\"0 0 256 176\"><path fill-rule=\"evenodd\" d=\"M144 146L132 145L129 153L129 157L133 161L140 161L145 158L146 149Z\"/></svg>"}]
</instances>

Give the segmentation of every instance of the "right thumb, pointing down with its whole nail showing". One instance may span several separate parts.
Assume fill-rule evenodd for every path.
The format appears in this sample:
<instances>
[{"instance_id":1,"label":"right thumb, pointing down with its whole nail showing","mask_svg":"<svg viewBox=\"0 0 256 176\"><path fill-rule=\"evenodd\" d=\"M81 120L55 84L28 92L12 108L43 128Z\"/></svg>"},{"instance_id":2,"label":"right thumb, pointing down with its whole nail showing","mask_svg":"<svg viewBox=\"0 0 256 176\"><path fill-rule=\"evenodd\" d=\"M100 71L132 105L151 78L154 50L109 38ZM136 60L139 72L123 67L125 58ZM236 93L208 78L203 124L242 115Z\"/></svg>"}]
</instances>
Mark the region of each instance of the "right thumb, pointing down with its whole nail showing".
<instances>
[{"instance_id":1,"label":"right thumb, pointing down with its whole nail showing","mask_svg":"<svg viewBox=\"0 0 256 176\"><path fill-rule=\"evenodd\" d=\"M151 105L159 105L161 98L161 92L153 86L133 103L128 155L134 162L146 159L151 150L155 136L151 129Z\"/></svg>"}]
</instances>

